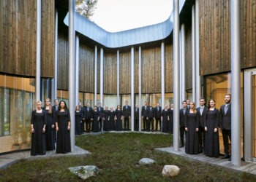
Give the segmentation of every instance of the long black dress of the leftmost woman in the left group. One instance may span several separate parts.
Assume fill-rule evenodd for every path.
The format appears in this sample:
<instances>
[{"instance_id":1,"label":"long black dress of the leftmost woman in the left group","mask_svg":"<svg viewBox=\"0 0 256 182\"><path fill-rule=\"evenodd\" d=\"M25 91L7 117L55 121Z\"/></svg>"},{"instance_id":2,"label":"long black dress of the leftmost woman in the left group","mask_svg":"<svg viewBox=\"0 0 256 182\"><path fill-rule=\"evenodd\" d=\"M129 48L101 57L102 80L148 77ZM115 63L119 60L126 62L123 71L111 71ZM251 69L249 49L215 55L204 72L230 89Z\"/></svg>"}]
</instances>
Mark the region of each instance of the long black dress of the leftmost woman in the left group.
<instances>
[{"instance_id":1,"label":"long black dress of the leftmost woman in the left group","mask_svg":"<svg viewBox=\"0 0 256 182\"><path fill-rule=\"evenodd\" d=\"M46 153L45 132L42 132L44 124L46 124L45 111L37 113L32 111L31 124L33 124L34 132L31 134L31 156L44 155Z\"/></svg>"}]
</instances>

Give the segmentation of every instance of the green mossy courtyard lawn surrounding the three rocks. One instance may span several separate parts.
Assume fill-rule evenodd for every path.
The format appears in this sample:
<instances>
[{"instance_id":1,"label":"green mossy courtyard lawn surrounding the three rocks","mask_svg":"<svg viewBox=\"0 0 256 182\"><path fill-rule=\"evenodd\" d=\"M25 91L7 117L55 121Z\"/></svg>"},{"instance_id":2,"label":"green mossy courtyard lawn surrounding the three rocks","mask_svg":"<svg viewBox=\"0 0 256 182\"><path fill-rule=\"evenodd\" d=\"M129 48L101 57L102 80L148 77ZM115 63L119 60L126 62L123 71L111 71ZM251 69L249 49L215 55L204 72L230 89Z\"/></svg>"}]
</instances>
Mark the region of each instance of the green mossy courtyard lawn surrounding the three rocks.
<instances>
[{"instance_id":1,"label":"green mossy courtyard lawn surrounding the three rocks","mask_svg":"<svg viewBox=\"0 0 256 182\"><path fill-rule=\"evenodd\" d=\"M80 135L76 145L91 151L87 157L59 157L53 159L22 160L0 171L0 181L81 181L67 167L96 165L99 175L89 181L256 181L255 175L233 173L222 167L190 161L183 157L154 151L171 145L171 135L141 133L105 133ZM154 165L138 166L148 157ZM177 165L180 175L163 178L164 165Z\"/></svg>"}]
</instances>

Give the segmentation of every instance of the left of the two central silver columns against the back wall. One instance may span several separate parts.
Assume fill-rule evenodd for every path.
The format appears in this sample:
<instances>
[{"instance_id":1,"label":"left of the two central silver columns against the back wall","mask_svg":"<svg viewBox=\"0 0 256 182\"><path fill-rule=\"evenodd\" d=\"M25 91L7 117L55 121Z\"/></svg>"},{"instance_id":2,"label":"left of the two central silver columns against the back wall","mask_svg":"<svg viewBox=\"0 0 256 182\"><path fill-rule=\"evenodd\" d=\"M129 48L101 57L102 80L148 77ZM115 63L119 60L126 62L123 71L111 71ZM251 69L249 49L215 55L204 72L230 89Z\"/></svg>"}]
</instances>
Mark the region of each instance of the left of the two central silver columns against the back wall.
<instances>
[{"instance_id":1,"label":"left of the two central silver columns against the back wall","mask_svg":"<svg viewBox=\"0 0 256 182\"><path fill-rule=\"evenodd\" d=\"M132 132L134 131L135 114L135 48L131 48L131 123Z\"/></svg>"}]
</instances>

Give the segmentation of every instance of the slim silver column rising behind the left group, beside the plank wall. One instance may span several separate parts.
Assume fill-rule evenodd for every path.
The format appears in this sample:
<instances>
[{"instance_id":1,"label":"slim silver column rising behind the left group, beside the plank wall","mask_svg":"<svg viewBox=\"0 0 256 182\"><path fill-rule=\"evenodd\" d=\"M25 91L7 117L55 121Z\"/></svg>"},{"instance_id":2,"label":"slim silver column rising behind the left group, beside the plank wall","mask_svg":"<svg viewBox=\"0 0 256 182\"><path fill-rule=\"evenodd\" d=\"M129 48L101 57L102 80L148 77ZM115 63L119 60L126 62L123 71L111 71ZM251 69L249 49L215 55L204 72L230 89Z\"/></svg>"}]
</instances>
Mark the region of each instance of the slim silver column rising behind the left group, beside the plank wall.
<instances>
[{"instance_id":1,"label":"slim silver column rising behind the left group, beside the plank wall","mask_svg":"<svg viewBox=\"0 0 256 182\"><path fill-rule=\"evenodd\" d=\"M54 93L53 99L57 98L58 81L58 11L55 12L55 52L54 52ZM54 102L54 100L53 100Z\"/></svg>"}]
</instances>

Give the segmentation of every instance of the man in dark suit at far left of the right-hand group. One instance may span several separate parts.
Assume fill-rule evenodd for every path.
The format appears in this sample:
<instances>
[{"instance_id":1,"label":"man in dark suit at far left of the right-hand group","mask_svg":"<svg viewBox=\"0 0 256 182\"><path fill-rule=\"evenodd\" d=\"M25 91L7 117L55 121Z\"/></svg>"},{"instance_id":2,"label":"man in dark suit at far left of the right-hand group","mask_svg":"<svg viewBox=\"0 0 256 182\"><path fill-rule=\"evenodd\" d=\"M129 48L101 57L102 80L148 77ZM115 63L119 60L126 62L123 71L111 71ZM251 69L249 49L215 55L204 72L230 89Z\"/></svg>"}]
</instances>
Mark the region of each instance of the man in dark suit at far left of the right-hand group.
<instances>
[{"instance_id":1,"label":"man in dark suit at far left of the right-hand group","mask_svg":"<svg viewBox=\"0 0 256 182\"><path fill-rule=\"evenodd\" d=\"M185 119L186 119L186 115L187 115L187 111L189 111L189 109L187 109L187 101L184 100L182 101L182 106L183 108L180 109L180 137L181 137L181 146L180 147L184 147L184 132L185 132Z\"/></svg>"}]
</instances>

